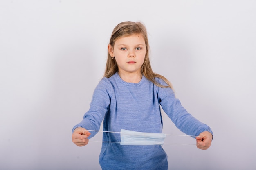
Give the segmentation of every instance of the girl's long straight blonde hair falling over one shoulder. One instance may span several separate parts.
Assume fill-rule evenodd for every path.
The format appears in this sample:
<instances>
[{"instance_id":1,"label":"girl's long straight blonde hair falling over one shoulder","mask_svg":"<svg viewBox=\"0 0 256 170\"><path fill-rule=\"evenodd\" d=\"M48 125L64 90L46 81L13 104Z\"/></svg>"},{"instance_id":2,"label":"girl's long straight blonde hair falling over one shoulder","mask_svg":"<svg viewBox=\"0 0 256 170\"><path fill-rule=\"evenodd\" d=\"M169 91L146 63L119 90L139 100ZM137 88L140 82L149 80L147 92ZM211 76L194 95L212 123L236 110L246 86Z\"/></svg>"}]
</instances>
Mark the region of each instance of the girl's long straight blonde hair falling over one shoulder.
<instances>
[{"instance_id":1,"label":"girl's long straight blonde hair falling over one shoulder","mask_svg":"<svg viewBox=\"0 0 256 170\"><path fill-rule=\"evenodd\" d=\"M148 54L149 53L148 33L146 30L146 27L141 22L126 21L118 24L113 29L109 44L112 47L114 47L115 41L117 41L117 39L121 37L127 37L133 34L141 34L144 37L145 44L146 44L146 55L145 55L144 63L141 66L141 74L144 75L148 80L153 82L158 87L164 87L164 88L170 87L173 89L171 83L164 76L153 72L151 68L150 61L149 61L149 54ZM116 72L118 72L117 62L114 59L112 59L110 54L108 54L104 76L109 78ZM167 86L157 83L157 81L155 81L155 78L161 78L162 80L165 81Z\"/></svg>"}]
</instances>

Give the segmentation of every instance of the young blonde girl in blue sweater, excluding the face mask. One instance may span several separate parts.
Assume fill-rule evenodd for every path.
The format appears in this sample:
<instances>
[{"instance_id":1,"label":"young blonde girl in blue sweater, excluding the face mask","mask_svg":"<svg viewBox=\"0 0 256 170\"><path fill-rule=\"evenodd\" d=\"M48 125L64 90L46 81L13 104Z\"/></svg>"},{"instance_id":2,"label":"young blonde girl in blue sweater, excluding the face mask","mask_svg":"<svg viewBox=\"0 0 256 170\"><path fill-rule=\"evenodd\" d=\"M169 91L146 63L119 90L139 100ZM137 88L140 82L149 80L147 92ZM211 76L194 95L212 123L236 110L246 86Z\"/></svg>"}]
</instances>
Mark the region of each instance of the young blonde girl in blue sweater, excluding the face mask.
<instances>
[{"instance_id":1,"label":"young blonde girl in blue sweater, excluding the face mask","mask_svg":"<svg viewBox=\"0 0 256 170\"><path fill-rule=\"evenodd\" d=\"M210 127L191 116L175 98L171 83L152 71L148 50L147 31L140 22L121 22L114 28L105 75L95 88L89 111L72 130L72 141L77 146L88 144L103 120L103 131L162 133L161 105L177 128L199 136L195 137L198 148L210 147ZM161 145L115 143L120 140L120 133L103 132L99 155L103 170L168 168Z\"/></svg>"}]
</instances>

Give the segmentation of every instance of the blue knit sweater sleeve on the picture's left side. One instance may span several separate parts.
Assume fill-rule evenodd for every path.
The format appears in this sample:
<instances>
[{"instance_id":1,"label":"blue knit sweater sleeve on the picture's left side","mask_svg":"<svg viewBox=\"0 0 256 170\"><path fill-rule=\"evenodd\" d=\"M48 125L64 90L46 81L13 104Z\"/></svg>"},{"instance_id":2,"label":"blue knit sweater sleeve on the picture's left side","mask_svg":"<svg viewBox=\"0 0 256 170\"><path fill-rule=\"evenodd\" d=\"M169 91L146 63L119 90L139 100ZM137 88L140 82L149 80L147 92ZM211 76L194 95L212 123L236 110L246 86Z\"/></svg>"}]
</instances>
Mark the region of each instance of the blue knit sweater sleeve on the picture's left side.
<instances>
[{"instance_id":1,"label":"blue knit sweater sleeve on the picture's left side","mask_svg":"<svg viewBox=\"0 0 256 170\"><path fill-rule=\"evenodd\" d=\"M84 114L83 120L73 127L72 133L77 127L83 127L88 130L99 130L101 122L110 106L110 90L109 81L107 78L103 78L94 90L90 109ZM96 135L97 132L91 131L90 133L91 135L88 139Z\"/></svg>"}]
</instances>

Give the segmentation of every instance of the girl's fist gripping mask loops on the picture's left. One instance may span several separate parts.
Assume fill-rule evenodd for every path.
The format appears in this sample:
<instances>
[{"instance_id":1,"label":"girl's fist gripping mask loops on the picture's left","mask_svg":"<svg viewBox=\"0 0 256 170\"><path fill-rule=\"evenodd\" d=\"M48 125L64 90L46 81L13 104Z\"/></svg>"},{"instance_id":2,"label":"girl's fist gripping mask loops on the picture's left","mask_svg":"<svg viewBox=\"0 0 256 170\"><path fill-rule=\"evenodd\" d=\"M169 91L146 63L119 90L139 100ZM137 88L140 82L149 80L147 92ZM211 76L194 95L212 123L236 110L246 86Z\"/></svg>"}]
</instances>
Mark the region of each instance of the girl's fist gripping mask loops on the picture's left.
<instances>
[{"instance_id":1,"label":"girl's fist gripping mask loops on the picture's left","mask_svg":"<svg viewBox=\"0 0 256 170\"><path fill-rule=\"evenodd\" d=\"M77 146L85 146L88 144L89 139L87 139L91 133L89 131L86 131L86 129L82 127L78 127L74 130L72 134L72 142L76 144Z\"/></svg>"}]
</instances>

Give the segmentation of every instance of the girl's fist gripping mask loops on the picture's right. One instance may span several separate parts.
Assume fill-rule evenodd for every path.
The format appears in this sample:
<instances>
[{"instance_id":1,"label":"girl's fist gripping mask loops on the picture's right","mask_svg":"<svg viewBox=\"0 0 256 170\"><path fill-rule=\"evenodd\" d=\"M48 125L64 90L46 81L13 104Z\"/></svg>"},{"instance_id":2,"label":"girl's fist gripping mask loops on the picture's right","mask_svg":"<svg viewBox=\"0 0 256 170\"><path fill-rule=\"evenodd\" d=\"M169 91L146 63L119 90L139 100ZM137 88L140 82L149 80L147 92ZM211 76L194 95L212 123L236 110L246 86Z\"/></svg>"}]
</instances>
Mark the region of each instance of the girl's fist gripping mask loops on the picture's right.
<instances>
[{"instance_id":1,"label":"girl's fist gripping mask loops on the picture's right","mask_svg":"<svg viewBox=\"0 0 256 170\"><path fill-rule=\"evenodd\" d=\"M199 137L195 137L196 139L196 146L199 149L208 149L211 146L211 141L212 141L212 134L208 131L204 131L199 134Z\"/></svg>"}]
</instances>

